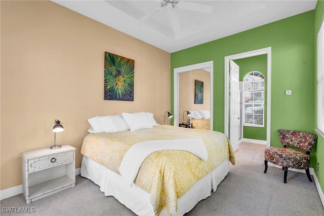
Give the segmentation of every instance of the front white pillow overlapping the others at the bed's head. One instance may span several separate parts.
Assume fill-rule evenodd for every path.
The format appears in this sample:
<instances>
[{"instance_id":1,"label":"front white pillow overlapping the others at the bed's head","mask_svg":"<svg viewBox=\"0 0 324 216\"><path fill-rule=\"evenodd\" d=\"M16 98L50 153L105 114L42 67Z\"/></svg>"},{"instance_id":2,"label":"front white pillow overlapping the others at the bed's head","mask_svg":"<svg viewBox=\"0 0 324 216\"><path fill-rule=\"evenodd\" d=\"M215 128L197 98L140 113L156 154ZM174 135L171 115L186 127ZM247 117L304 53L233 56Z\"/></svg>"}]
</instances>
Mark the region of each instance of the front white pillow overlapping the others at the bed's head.
<instances>
[{"instance_id":1,"label":"front white pillow overlapping the others at the bed's head","mask_svg":"<svg viewBox=\"0 0 324 216\"><path fill-rule=\"evenodd\" d=\"M153 128L152 123L148 120L147 114L141 113L122 113L127 125L130 127L131 132Z\"/></svg>"}]
</instances>

